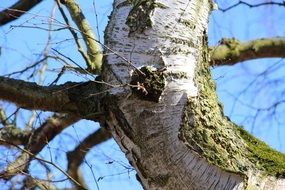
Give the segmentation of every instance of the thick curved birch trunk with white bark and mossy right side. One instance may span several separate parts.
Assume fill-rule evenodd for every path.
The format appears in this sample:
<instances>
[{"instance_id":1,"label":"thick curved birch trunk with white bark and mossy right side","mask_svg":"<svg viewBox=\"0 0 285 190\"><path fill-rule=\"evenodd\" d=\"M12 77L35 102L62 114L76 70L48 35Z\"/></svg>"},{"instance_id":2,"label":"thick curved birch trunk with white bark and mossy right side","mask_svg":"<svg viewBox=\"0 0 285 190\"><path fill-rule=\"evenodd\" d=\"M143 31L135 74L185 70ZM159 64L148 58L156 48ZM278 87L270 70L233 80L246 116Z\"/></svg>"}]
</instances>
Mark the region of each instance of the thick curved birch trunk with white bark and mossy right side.
<instances>
[{"instance_id":1,"label":"thick curved birch trunk with white bark and mossy right side","mask_svg":"<svg viewBox=\"0 0 285 190\"><path fill-rule=\"evenodd\" d=\"M282 189L276 176L284 168L262 164L251 145L265 145L218 103L207 54L212 7L211 0L114 1L102 75L112 86L108 126L145 189Z\"/></svg>"}]
</instances>

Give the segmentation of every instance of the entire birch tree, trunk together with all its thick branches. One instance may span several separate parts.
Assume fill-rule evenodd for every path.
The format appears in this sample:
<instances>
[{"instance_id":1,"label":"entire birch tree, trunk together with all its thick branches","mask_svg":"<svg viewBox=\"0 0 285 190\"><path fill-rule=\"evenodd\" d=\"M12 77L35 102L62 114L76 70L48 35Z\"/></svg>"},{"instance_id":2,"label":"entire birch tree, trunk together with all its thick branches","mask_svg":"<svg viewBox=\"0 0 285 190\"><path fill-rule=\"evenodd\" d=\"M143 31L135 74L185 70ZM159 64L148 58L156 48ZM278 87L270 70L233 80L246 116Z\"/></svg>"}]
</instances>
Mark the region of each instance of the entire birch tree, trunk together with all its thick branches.
<instances>
[{"instance_id":1,"label":"entire birch tree, trunk together with all its thick branches","mask_svg":"<svg viewBox=\"0 0 285 190\"><path fill-rule=\"evenodd\" d=\"M40 2L17 2L0 13L1 25ZM100 44L76 1L55 2L85 61L84 68L72 69L94 78L57 85L69 65L50 85L0 77L2 101L54 113L40 126L22 130L0 110L1 145L21 151L2 168L1 179L24 176L23 187L56 189L51 180L29 172L37 160L62 172L77 189L88 189L80 164L91 147L114 138L144 189L285 188L285 156L224 115L210 72L212 66L284 57L283 38L223 39L208 47L209 15L217 9L212 0L114 0ZM72 62L53 50L58 61ZM67 153L67 170L38 156L81 119L101 128Z\"/></svg>"}]
</instances>

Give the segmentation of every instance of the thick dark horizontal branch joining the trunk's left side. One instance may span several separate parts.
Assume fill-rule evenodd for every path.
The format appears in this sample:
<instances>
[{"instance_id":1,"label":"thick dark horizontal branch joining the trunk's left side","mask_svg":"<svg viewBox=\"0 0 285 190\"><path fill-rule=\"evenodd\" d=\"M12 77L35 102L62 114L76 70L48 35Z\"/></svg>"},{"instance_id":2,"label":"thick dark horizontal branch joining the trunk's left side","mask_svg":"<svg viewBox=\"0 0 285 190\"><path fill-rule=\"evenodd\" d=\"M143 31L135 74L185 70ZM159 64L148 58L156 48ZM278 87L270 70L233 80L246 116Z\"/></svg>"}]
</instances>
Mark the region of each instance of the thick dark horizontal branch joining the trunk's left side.
<instances>
[{"instance_id":1,"label":"thick dark horizontal branch joining the trunk's left side","mask_svg":"<svg viewBox=\"0 0 285 190\"><path fill-rule=\"evenodd\" d=\"M98 86L96 82L68 82L63 85L39 86L36 83L0 76L0 99L26 109L86 116L85 114L98 112L93 107L92 112L88 113L90 110L87 108L100 103L102 93L98 93Z\"/></svg>"}]
</instances>

